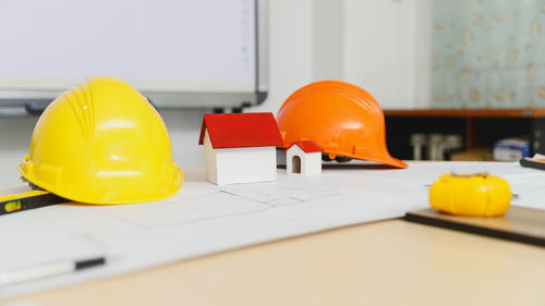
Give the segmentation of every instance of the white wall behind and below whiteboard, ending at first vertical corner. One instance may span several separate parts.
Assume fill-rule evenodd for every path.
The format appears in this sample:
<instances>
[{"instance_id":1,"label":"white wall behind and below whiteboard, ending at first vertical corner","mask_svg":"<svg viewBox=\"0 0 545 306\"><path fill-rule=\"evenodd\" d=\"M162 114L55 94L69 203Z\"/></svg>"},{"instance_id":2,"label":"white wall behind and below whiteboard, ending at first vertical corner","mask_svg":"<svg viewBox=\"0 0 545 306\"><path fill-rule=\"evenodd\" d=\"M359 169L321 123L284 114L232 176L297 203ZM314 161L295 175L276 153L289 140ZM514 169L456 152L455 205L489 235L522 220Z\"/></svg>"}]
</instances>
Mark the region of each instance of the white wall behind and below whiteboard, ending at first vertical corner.
<instances>
[{"instance_id":1,"label":"white wall behind and below whiteboard, ending at first vertical corner","mask_svg":"<svg viewBox=\"0 0 545 306\"><path fill-rule=\"evenodd\" d=\"M290 93L313 77L312 0L269 1L269 96L263 107L251 111L274 111ZM206 110L165 110L174 160L183 169L204 167L204 149L198 146ZM19 163L28 150L37 117L0 118L0 184L19 183Z\"/></svg>"}]
</instances>

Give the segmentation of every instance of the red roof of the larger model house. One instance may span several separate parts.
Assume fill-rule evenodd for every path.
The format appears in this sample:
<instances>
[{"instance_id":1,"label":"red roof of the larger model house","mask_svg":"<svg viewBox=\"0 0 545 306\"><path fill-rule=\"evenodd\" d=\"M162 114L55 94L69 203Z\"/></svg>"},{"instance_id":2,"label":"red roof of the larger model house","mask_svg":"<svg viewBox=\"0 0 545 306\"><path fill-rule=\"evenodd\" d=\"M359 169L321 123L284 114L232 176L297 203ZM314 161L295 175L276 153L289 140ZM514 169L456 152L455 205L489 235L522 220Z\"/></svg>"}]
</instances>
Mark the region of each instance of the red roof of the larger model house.
<instances>
[{"instance_id":1,"label":"red roof of the larger model house","mask_svg":"<svg viewBox=\"0 0 545 306\"><path fill-rule=\"evenodd\" d=\"M206 130L215 149L283 145L270 112L207 113L203 118L199 145L203 145Z\"/></svg>"}]
</instances>

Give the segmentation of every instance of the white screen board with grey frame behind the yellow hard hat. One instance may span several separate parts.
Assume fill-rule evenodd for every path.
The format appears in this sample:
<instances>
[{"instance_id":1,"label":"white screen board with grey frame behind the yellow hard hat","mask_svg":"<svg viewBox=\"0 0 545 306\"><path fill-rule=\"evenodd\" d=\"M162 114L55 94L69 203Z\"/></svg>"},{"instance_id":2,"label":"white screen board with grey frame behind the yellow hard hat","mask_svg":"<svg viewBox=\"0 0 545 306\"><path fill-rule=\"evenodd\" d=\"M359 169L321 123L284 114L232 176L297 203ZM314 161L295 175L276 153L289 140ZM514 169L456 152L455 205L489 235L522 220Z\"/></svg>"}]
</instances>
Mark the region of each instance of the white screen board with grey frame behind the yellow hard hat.
<instances>
[{"instance_id":1,"label":"white screen board with grey frame behind the yellow hard hat","mask_svg":"<svg viewBox=\"0 0 545 306\"><path fill-rule=\"evenodd\" d=\"M125 79L159 108L266 97L266 2L0 0L0 108L45 108L89 76Z\"/></svg>"}]
</instances>

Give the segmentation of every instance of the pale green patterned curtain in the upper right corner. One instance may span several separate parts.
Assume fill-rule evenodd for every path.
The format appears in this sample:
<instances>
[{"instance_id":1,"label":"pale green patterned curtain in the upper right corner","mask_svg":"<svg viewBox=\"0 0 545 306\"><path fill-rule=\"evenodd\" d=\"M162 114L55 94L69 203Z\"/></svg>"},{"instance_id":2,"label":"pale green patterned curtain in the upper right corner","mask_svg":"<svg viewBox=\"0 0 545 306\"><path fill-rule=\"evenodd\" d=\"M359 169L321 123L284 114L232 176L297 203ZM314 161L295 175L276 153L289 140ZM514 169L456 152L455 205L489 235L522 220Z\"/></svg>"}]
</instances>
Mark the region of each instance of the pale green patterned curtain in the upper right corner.
<instances>
[{"instance_id":1,"label":"pale green patterned curtain in the upper right corner","mask_svg":"<svg viewBox=\"0 0 545 306\"><path fill-rule=\"evenodd\" d=\"M432 107L545 107L544 0L434 0Z\"/></svg>"}]
</instances>

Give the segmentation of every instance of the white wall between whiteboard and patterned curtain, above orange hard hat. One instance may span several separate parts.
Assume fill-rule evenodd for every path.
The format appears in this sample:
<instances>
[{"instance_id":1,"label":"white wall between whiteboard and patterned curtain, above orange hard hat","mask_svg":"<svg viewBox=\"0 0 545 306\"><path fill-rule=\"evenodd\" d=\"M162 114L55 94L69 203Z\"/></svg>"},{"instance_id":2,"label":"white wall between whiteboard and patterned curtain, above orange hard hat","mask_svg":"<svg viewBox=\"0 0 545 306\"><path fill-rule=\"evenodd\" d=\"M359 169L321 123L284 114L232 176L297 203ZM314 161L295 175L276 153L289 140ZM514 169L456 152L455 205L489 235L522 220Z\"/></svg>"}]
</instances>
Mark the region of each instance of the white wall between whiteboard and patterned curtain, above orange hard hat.
<instances>
[{"instance_id":1,"label":"white wall between whiteboard and patterned curtain, above orange hard hat","mask_svg":"<svg viewBox=\"0 0 545 306\"><path fill-rule=\"evenodd\" d=\"M270 95L277 112L302 85L343 79L383 109L429 106L433 0L274 0ZM252 110L250 110L252 111Z\"/></svg>"}]
</instances>

